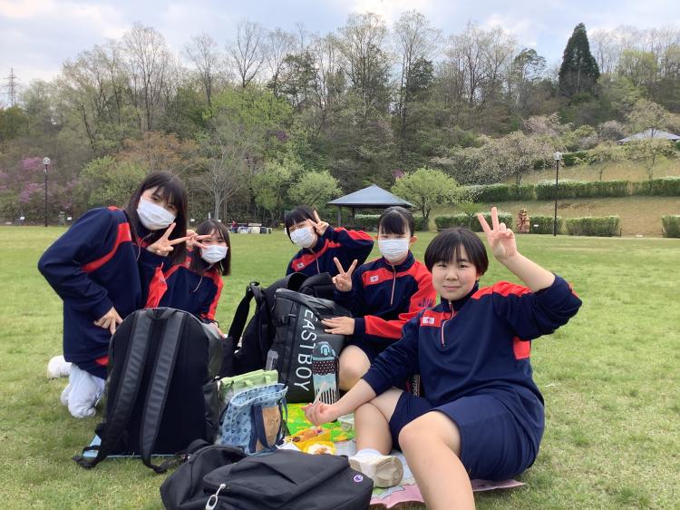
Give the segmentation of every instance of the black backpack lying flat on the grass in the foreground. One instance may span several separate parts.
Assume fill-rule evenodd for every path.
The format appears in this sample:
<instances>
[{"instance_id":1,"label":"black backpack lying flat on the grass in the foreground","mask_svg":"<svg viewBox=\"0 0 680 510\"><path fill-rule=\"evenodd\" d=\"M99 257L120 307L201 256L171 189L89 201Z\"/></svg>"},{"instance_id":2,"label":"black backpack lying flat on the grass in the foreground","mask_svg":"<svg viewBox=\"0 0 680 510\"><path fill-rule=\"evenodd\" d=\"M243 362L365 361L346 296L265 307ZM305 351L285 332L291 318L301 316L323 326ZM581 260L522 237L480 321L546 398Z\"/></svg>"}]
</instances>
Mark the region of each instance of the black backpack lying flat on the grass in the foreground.
<instances>
[{"instance_id":1,"label":"black backpack lying flat on the grass in the foreground","mask_svg":"<svg viewBox=\"0 0 680 510\"><path fill-rule=\"evenodd\" d=\"M373 482L346 456L291 450L249 456L231 446L205 446L160 485L168 510L359 510Z\"/></svg>"}]
</instances>

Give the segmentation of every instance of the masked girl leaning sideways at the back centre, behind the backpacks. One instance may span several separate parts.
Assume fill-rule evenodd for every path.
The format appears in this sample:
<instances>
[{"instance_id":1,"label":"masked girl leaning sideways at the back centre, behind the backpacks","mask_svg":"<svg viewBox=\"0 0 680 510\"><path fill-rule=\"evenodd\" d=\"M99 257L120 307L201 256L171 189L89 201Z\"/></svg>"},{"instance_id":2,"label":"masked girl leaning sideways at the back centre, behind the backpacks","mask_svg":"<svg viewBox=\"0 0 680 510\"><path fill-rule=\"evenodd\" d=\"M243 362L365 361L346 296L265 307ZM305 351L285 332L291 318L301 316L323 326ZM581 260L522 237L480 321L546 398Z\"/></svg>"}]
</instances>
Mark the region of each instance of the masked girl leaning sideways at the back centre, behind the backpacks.
<instances>
[{"instance_id":1,"label":"masked girl leaning sideways at the back centre, behind the backpacks","mask_svg":"<svg viewBox=\"0 0 680 510\"><path fill-rule=\"evenodd\" d=\"M285 223L288 238L300 249L288 263L286 274L327 272L335 276L338 270L334 259L347 266L352 260L363 263L373 250L373 239L366 232L334 229L306 205L288 212Z\"/></svg>"}]
</instances>

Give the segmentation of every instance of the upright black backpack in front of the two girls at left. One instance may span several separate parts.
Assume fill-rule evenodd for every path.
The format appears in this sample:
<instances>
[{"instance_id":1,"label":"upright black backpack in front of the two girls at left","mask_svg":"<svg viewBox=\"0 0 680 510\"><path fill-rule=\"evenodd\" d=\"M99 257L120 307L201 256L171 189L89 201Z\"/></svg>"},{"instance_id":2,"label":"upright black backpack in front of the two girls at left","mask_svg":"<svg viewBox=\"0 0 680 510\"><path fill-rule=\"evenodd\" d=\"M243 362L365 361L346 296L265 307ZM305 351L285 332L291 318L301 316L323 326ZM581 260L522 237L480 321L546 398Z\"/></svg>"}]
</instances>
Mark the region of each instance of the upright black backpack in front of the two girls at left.
<instances>
[{"instance_id":1,"label":"upright black backpack in front of the two girls at left","mask_svg":"<svg viewBox=\"0 0 680 510\"><path fill-rule=\"evenodd\" d=\"M213 442L219 428L217 375L222 339L217 331L177 309L141 309L116 330L109 348L109 374L101 446L93 467L106 456L139 455L162 473L172 464L151 464L151 455L174 455L196 439Z\"/></svg>"}]
</instances>

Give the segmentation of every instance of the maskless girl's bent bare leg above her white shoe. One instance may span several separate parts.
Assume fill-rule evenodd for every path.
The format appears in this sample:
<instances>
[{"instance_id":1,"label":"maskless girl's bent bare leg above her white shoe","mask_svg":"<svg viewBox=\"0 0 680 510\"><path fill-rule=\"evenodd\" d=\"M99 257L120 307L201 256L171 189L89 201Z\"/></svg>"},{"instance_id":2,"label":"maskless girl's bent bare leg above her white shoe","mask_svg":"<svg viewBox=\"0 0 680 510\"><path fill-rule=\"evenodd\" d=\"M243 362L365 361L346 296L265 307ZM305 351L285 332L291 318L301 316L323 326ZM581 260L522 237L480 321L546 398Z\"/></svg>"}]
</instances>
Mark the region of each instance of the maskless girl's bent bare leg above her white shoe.
<instances>
[{"instance_id":1,"label":"maskless girl's bent bare leg above her white shoe","mask_svg":"<svg viewBox=\"0 0 680 510\"><path fill-rule=\"evenodd\" d=\"M389 422L396 407L401 389L388 389L380 397L355 411L356 449L374 448L381 454L389 454L392 450L392 435Z\"/></svg>"}]
</instances>

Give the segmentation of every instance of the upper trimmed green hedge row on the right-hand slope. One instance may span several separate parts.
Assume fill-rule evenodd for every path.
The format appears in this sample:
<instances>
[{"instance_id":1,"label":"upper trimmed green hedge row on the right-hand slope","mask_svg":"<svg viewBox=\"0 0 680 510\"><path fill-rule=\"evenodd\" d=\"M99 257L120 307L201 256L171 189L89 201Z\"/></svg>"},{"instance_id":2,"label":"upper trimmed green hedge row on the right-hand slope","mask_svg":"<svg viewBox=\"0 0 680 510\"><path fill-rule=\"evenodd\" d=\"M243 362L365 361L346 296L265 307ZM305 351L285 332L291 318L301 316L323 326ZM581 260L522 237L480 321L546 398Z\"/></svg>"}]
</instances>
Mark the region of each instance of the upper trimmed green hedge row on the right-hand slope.
<instances>
[{"instance_id":1,"label":"upper trimmed green hedge row on the right-hand slope","mask_svg":"<svg viewBox=\"0 0 680 510\"><path fill-rule=\"evenodd\" d=\"M555 200L555 181L538 184L487 184L468 186L473 201L497 203L501 201ZM662 177L649 181L571 181L558 183L558 199L590 199L606 197L680 196L680 177Z\"/></svg>"}]
</instances>

